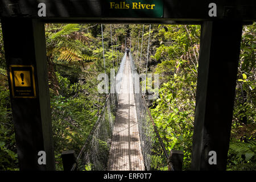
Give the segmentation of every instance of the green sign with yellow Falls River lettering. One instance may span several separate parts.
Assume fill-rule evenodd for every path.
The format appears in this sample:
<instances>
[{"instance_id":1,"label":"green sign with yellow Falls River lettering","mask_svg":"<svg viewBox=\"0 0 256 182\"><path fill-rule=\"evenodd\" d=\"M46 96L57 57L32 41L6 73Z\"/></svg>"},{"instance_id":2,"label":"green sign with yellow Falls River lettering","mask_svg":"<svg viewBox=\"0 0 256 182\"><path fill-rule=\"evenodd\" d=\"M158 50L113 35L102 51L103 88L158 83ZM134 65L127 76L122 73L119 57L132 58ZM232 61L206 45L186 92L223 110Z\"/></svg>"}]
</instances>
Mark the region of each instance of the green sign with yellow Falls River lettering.
<instances>
[{"instance_id":1,"label":"green sign with yellow Falls River lettering","mask_svg":"<svg viewBox=\"0 0 256 182\"><path fill-rule=\"evenodd\" d=\"M129 18L162 18L162 0L106 0L102 15Z\"/></svg>"}]
</instances>

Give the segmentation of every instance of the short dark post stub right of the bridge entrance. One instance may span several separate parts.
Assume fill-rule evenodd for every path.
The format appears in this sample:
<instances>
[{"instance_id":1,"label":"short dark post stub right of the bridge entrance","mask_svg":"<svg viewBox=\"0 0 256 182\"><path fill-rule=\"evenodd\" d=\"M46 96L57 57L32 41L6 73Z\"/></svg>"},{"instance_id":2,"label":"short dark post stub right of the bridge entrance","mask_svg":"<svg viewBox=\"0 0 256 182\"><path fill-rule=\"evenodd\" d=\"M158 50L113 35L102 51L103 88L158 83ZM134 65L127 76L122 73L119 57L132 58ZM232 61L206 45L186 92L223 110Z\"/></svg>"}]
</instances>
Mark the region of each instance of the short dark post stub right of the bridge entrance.
<instances>
[{"instance_id":1,"label":"short dark post stub right of the bridge entrance","mask_svg":"<svg viewBox=\"0 0 256 182\"><path fill-rule=\"evenodd\" d=\"M168 158L168 171L182 171L183 157L183 151L171 150Z\"/></svg>"}]
</instances>

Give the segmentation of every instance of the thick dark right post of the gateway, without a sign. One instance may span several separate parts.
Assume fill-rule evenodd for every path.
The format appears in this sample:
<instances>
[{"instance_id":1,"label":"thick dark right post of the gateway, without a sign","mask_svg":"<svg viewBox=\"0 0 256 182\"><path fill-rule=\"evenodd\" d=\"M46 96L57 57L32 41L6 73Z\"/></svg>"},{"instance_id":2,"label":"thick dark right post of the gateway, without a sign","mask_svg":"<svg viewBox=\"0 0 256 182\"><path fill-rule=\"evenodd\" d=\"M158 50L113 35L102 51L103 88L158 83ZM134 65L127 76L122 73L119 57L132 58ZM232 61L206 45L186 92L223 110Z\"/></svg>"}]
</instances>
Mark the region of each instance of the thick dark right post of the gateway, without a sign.
<instances>
[{"instance_id":1,"label":"thick dark right post of the gateway, without a sign","mask_svg":"<svg viewBox=\"0 0 256 182\"><path fill-rule=\"evenodd\" d=\"M201 26L192 170L226 169L241 34L241 22Z\"/></svg>"}]
</instances>

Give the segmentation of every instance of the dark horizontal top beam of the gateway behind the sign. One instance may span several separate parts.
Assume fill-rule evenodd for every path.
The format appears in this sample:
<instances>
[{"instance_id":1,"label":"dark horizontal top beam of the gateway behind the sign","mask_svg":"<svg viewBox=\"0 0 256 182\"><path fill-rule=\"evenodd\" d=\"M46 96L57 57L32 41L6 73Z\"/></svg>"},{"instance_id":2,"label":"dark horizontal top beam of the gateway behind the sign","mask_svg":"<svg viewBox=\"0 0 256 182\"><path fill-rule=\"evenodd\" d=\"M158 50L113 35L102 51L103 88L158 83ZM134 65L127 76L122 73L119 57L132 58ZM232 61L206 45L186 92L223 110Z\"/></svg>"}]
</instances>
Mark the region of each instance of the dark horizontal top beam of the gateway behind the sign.
<instances>
[{"instance_id":1,"label":"dark horizontal top beam of the gateway behind the sign","mask_svg":"<svg viewBox=\"0 0 256 182\"><path fill-rule=\"evenodd\" d=\"M253 21L256 19L256 2L253 0L163 0L164 1L164 16L158 18L159 20L174 20L185 22L197 22L202 20L212 19L240 19L244 21ZM48 20L60 20L73 18L76 20L103 20L106 18L113 18L114 20L125 20L127 16L114 16L104 14L105 0L37 0L37 1L11 1L0 0L0 17L10 16L29 16L30 18L38 18L38 4L43 2L46 4L46 18ZM209 3L216 3L217 17L209 17L208 11L210 10ZM56 19L55 19L56 18ZM141 19L141 16L137 17ZM145 18L152 17L143 17ZM126 19L127 20L127 19ZM130 22L133 22L133 20Z\"/></svg>"}]
</instances>

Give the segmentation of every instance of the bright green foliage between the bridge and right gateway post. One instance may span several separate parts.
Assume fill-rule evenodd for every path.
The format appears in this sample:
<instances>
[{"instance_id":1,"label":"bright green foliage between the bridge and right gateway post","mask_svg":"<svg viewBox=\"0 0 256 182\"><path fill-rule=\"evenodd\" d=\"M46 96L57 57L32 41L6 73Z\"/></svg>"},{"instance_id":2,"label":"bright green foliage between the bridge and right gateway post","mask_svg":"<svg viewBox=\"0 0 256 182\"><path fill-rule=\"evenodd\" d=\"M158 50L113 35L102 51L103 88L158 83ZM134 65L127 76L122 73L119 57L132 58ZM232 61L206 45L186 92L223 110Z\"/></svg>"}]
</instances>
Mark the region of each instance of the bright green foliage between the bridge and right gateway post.
<instances>
[{"instance_id":1,"label":"bright green foliage between the bridge and right gateway post","mask_svg":"<svg viewBox=\"0 0 256 182\"><path fill-rule=\"evenodd\" d=\"M158 28L160 46L152 59L160 61L155 73L159 73L162 85L151 114L167 151L184 152L183 169L187 170L191 165L200 26ZM166 159L159 152L156 150L155 155L162 156L162 166L156 169L167 169Z\"/></svg>"}]
</instances>

